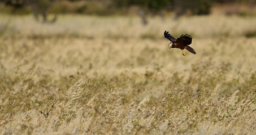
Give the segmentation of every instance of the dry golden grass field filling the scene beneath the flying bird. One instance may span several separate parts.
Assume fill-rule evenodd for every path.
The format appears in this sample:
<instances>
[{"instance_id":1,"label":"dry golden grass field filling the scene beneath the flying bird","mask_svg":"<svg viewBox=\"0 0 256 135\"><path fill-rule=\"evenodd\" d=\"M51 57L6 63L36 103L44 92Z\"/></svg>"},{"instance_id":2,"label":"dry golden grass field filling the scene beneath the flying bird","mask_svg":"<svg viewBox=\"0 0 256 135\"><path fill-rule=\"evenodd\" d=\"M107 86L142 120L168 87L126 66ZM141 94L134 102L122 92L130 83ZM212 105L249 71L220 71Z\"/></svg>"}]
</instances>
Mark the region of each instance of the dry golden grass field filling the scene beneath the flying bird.
<instances>
[{"instance_id":1,"label":"dry golden grass field filling the scene beneath the flying bird","mask_svg":"<svg viewBox=\"0 0 256 135\"><path fill-rule=\"evenodd\" d=\"M0 134L256 134L256 17L140 21L1 15Z\"/></svg>"}]
</instances>

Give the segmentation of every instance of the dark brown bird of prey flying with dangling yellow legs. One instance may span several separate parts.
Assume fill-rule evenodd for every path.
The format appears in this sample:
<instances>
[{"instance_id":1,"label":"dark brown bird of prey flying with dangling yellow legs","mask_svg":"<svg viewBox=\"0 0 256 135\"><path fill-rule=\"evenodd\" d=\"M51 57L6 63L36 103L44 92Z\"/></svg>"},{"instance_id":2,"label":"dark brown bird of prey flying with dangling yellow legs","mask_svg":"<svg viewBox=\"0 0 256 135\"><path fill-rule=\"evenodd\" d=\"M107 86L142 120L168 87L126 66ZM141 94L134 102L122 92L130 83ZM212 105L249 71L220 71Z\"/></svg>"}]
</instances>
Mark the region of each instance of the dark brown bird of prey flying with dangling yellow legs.
<instances>
[{"instance_id":1,"label":"dark brown bird of prey flying with dangling yellow legs","mask_svg":"<svg viewBox=\"0 0 256 135\"><path fill-rule=\"evenodd\" d=\"M194 51L193 48L188 46L189 44L192 43L192 37L191 35L185 34L181 35L179 38L173 38L169 32L164 31L164 37L169 39L171 43L168 44L169 48L180 48L183 56L185 56L184 49L188 50L189 52L196 54L196 51Z\"/></svg>"}]
</instances>

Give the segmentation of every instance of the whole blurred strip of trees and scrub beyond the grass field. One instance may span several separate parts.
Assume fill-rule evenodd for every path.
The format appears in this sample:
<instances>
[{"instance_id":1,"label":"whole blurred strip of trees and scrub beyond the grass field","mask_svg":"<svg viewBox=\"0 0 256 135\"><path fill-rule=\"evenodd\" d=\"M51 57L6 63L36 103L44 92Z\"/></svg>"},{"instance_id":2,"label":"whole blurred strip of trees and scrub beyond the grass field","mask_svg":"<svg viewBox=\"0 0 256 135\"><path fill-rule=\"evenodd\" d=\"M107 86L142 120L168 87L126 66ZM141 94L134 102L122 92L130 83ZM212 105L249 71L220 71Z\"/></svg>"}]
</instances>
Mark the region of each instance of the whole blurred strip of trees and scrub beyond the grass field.
<instances>
[{"instance_id":1,"label":"whole blurred strip of trees and scrub beyond the grass field","mask_svg":"<svg viewBox=\"0 0 256 135\"><path fill-rule=\"evenodd\" d=\"M175 19L182 15L209 15L223 13L225 15L252 16L255 15L255 0L2 0L2 13L13 15L28 15L33 13L38 20L56 21L57 16L48 19L49 14L63 15L67 13L81 15L131 15L137 14L142 22L147 24L147 16L166 16L167 12L173 12Z\"/></svg>"}]
</instances>

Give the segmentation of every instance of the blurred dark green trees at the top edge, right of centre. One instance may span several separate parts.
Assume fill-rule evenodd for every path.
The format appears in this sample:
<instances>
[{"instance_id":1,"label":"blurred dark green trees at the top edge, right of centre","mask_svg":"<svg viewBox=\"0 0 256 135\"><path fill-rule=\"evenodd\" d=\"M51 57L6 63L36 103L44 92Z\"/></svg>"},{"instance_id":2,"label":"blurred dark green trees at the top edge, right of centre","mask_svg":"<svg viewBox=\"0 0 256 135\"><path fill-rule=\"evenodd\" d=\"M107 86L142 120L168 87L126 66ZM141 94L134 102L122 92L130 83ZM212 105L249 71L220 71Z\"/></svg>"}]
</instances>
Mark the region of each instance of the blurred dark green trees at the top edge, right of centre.
<instances>
[{"instance_id":1,"label":"blurred dark green trees at the top edge, right of centre","mask_svg":"<svg viewBox=\"0 0 256 135\"><path fill-rule=\"evenodd\" d=\"M175 11L177 17L184 14L192 14L192 15L205 15L210 13L210 8L212 7L213 1L209 0L112 0L117 8L129 7L129 6L139 6L141 7L138 11L138 15L141 16L142 22L144 24L147 23L145 14L150 13L158 13L160 16L162 10L170 10ZM145 13L145 11L147 11Z\"/></svg>"}]
</instances>

